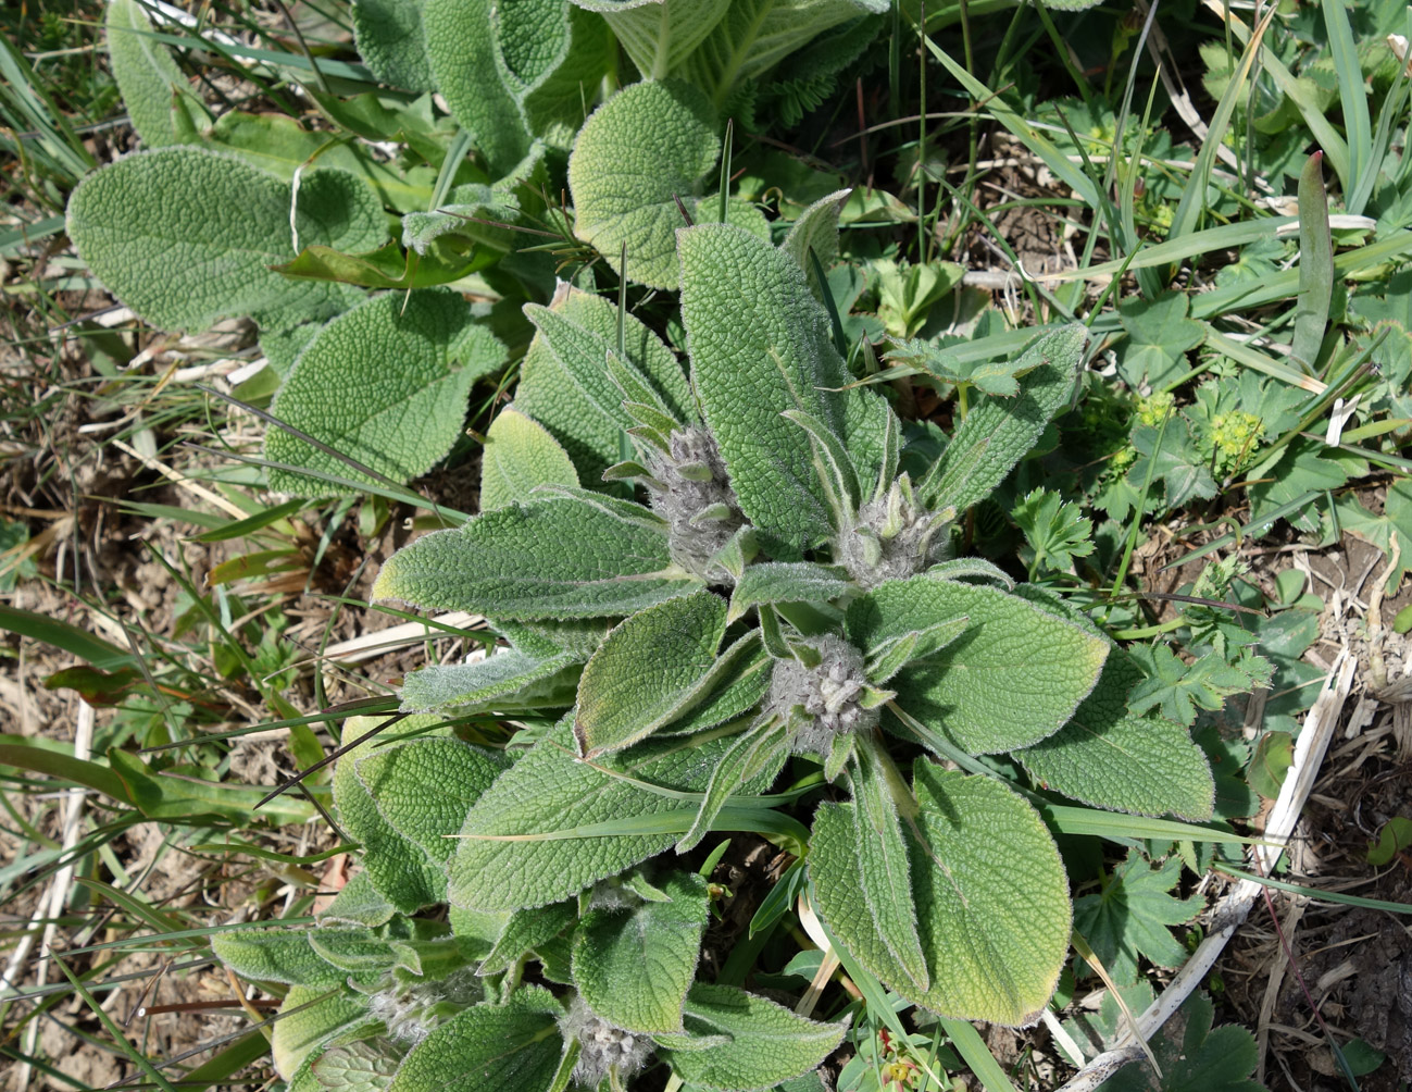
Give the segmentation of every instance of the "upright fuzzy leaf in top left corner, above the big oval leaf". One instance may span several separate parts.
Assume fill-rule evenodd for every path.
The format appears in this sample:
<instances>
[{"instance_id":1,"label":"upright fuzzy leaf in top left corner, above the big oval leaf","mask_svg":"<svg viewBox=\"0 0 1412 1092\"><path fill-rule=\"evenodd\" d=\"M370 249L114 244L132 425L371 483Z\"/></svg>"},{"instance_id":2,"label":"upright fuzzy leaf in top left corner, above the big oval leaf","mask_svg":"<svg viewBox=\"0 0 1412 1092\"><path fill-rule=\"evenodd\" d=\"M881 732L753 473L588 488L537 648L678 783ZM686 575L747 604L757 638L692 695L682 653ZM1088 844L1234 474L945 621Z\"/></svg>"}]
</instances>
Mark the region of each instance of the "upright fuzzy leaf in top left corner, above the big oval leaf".
<instances>
[{"instance_id":1,"label":"upright fuzzy leaf in top left corner, above the big oval leaf","mask_svg":"<svg viewBox=\"0 0 1412 1092\"><path fill-rule=\"evenodd\" d=\"M143 144L158 148L195 143L196 131L205 129L210 114L192 93L171 51L152 35L141 3L109 0L104 28L113 79ZM185 124L179 126L184 116Z\"/></svg>"}]
</instances>

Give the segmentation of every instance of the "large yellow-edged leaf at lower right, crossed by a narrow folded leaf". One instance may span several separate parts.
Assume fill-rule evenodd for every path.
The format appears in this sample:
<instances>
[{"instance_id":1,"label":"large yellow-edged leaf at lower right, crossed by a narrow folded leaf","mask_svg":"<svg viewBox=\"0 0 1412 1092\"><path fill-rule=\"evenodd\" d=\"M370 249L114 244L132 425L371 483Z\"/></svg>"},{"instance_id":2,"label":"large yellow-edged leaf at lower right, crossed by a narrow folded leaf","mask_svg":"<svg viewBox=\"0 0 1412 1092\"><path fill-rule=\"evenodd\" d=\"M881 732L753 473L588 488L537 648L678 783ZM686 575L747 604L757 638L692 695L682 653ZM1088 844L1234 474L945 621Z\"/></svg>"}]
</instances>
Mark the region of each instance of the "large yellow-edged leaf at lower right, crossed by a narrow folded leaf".
<instances>
[{"instance_id":1,"label":"large yellow-edged leaf at lower right, crossed by a narrow folded leaf","mask_svg":"<svg viewBox=\"0 0 1412 1092\"><path fill-rule=\"evenodd\" d=\"M931 986L918 990L858 898L851 804L823 804L809 842L819 915L853 956L942 1016L1024 1024L1049 1000L1069 951L1069 882L1039 815L990 777L914 767L902 824Z\"/></svg>"}]
</instances>

